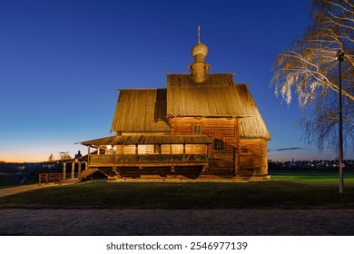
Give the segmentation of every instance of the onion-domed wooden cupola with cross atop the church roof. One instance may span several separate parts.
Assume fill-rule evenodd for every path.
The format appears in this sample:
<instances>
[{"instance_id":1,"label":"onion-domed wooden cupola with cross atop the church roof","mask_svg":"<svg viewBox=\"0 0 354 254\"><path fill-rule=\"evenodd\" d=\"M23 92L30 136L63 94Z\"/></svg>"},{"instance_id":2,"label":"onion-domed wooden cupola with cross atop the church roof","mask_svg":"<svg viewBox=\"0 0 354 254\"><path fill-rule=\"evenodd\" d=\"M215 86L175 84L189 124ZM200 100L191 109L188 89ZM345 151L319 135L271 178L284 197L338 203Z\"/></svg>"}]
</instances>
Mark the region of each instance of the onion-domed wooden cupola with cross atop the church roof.
<instances>
[{"instance_id":1,"label":"onion-domed wooden cupola with cross atop the church roof","mask_svg":"<svg viewBox=\"0 0 354 254\"><path fill-rule=\"evenodd\" d=\"M189 70L192 73L192 79L197 83L202 83L206 80L206 74L211 69L211 65L204 62L205 56L208 54L208 47L201 44L201 28L198 25L198 44L192 47L192 57L194 63L190 64Z\"/></svg>"}]
</instances>

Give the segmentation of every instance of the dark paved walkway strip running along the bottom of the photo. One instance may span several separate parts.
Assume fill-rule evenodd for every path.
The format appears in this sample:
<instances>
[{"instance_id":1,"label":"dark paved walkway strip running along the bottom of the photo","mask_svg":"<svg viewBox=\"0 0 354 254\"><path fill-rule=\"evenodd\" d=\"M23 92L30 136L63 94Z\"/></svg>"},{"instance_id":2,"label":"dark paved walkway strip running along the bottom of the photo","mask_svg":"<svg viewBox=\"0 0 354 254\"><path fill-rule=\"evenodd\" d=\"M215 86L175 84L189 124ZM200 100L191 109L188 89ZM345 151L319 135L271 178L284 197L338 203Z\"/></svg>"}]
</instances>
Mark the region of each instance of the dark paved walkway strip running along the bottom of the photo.
<instances>
[{"instance_id":1,"label":"dark paved walkway strip running along the bottom of the photo","mask_svg":"<svg viewBox=\"0 0 354 254\"><path fill-rule=\"evenodd\" d=\"M0 235L354 236L354 210L0 210Z\"/></svg>"}]
</instances>

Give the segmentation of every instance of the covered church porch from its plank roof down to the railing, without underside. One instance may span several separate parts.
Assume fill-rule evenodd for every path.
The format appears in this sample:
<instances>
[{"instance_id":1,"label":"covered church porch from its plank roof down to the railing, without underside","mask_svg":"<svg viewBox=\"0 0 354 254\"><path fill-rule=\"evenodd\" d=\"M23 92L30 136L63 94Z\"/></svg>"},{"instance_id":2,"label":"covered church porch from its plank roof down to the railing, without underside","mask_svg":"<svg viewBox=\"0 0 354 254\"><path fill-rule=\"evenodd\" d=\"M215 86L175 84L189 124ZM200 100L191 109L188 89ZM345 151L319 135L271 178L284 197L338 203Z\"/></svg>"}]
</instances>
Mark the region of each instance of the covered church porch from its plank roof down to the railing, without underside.
<instances>
[{"instance_id":1,"label":"covered church porch from its plank roof down to the railing, without underside","mask_svg":"<svg viewBox=\"0 0 354 254\"><path fill-rule=\"evenodd\" d=\"M83 142L88 167L202 166L208 163L210 143L203 135L125 135Z\"/></svg>"}]
</instances>

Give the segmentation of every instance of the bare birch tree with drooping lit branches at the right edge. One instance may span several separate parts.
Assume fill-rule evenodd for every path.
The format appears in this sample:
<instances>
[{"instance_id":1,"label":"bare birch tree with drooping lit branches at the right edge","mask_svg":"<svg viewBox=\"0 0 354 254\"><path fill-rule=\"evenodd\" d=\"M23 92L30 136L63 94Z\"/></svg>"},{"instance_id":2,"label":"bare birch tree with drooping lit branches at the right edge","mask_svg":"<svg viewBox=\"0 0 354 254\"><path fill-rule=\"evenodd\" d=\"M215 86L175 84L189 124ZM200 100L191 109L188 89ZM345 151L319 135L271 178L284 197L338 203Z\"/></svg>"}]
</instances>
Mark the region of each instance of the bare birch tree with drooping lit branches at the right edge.
<instances>
[{"instance_id":1,"label":"bare birch tree with drooping lit branches at the right edge","mask_svg":"<svg viewBox=\"0 0 354 254\"><path fill-rule=\"evenodd\" d=\"M286 103L297 93L303 117L300 126L305 140L338 147L339 63L342 62L343 137L354 151L354 2L353 0L313 0L312 21L306 34L283 51L274 64L272 85Z\"/></svg>"}]
</instances>

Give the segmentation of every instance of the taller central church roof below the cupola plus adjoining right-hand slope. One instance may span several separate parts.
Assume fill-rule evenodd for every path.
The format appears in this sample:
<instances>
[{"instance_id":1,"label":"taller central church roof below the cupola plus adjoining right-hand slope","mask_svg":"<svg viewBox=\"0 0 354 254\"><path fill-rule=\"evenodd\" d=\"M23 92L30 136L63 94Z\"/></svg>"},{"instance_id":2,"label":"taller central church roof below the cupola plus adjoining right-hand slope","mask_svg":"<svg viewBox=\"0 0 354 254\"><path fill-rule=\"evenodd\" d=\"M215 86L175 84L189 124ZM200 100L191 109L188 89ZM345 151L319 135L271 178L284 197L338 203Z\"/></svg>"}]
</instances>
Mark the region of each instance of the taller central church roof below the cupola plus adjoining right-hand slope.
<instances>
[{"instance_id":1,"label":"taller central church roof below the cupola plus adjoining right-hand slope","mask_svg":"<svg viewBox=\"0 0 354 254\"><path fill-rule=\"evenodd\" d=\"M270 139L251 93L231 73L208 74L196 83L189 74L167 75L167 115L241 118L241 138Z\"/></svg>"}]
</instances>

